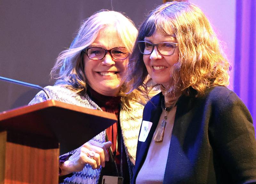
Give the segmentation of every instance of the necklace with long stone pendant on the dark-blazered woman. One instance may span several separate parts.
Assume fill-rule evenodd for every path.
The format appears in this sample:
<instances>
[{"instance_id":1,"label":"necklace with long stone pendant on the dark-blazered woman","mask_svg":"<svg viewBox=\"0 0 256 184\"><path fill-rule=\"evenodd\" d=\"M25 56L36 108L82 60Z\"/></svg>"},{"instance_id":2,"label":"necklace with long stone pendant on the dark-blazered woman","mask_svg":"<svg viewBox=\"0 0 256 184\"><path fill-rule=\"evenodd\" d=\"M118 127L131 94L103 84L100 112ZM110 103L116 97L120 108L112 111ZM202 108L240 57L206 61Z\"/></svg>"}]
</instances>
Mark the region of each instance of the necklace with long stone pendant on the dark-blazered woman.
<instances>
[{"instance_id":1,"label":"necklace with long stone pendant on the dark-blazered woman","mask_svg":"<svg viewBox=\"0 0 256 184\"><path fill-rule=\"evenodd\" d=\"M164 106L164 98L162 99L162 101L161 101L161 108L163 108L163 110L165 111L165 116L164 116L164 120L161 122L160 126L156 130L156 135L154 137L154 140L156 142L162 142L163 141L164 130L165 130L165 126L166 126L166 120L168 118L169 112L172 110L172 108L174 106L175 106L175 103L173 105L171 105L170 107L165 107Z\"/></svg>"}]
</instances>

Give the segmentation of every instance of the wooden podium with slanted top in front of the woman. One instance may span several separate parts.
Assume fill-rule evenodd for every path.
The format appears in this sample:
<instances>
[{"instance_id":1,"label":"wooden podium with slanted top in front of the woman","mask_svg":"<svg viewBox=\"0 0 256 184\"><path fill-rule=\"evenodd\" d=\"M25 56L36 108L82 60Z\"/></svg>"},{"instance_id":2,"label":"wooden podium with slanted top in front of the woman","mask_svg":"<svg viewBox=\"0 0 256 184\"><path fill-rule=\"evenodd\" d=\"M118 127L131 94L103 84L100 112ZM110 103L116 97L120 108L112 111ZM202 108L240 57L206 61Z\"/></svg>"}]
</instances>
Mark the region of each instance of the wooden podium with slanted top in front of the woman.
<instances>
[{"instance_id":1,"label":"wooden podium with slanted top in front of the woman","mask_svg":"<svg viewBox=\"0 0 256 184\"><path fill-rule=\"evenodd\" d=\"M0 184L57 184L59 155L116 121L114 114L54 100L0 113Z\"/></svg>"}]
</instances>

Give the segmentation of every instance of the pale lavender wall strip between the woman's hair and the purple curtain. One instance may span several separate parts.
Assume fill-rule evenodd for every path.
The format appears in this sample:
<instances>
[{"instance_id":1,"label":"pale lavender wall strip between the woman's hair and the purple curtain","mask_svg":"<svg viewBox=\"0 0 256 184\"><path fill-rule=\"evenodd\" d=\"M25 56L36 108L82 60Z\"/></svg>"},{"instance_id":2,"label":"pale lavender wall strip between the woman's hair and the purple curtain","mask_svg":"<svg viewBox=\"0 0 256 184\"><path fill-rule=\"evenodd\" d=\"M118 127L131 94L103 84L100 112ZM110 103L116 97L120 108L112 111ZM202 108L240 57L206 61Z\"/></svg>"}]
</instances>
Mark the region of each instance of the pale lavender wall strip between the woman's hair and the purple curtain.
<instances>
[{"instance_id":1,"label":"pale lavender wall strip between the woman's hair and the purple curtain","mask_svg":"<svg viewBox=\"0 0 256 184\"><path fill-rule=\"evenodd\" d=\"M228 60L235 66L235 38L236 38L236 3L234 0L189 0L198 5L210 20L218 38L222 41ZM230 72L228 88L234 89L234 69Z\"/></svg>"}]
</instances>

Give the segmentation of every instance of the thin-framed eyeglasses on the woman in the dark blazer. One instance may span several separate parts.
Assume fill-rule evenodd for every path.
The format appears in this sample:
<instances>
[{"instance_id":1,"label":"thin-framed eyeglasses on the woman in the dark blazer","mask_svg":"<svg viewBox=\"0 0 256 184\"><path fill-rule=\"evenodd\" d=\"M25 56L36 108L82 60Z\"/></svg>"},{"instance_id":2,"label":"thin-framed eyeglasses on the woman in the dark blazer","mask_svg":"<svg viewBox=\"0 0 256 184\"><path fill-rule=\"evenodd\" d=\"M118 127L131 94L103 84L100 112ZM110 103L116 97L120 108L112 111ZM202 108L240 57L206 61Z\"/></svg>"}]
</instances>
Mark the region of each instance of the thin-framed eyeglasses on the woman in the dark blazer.
<instances>
[{"instance_id":1,"label":"thin-framed eyeglasses on the woman in the dark blazer","mask_svg":"<svg viewBox=\"0 0 256 184\"><path fill-rule=\"evenodd\" d=\"M172 42L162 42L159 44L152 44L147 41L138 41L137 42L139 50L142 54L150 55L154 47L156 46L157 50L164 56L170 56L174 53L175 48L178 46L177 43Z\"/></svg>"}]
</instances>

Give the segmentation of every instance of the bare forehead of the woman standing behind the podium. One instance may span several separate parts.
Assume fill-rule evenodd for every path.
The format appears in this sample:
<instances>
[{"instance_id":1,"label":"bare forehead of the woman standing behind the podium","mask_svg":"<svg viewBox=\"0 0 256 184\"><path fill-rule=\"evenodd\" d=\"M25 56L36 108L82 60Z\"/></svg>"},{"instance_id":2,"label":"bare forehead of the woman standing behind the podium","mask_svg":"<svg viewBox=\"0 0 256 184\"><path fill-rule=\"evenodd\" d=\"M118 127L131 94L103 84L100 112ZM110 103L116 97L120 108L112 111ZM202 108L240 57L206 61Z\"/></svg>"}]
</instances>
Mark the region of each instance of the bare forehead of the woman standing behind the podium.
<instances>
[{"instance_id":1,"label":"bare forehead of the woman standing behind the podium","mask_svg":"<svg viewBox=\"0 0 256 184\"><path fill-rule=\"evenodd\" d=\"M124 43L120 38L115 26L107 26L99 31L98 36L90 47L102 47L104 49L112 49L114 47L124 47Z\"/></svg>"}]
</instances>

